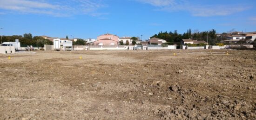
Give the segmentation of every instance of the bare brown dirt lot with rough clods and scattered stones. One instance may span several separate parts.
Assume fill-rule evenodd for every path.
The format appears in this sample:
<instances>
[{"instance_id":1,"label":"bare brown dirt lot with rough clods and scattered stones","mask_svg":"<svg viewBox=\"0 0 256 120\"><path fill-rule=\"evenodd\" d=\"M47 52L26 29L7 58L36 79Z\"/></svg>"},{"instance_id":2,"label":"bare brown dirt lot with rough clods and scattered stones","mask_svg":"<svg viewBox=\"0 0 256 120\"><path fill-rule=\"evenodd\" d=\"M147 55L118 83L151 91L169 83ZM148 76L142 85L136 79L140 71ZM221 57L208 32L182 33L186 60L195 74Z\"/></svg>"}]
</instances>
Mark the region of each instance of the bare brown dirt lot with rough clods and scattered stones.
<instances>
[{"instance_id":1,"label":"bare brown dirt lot with rough clods and scattered stones","mask_svg":"<svg viewBox=\"0 0 256 120\"><path fill-rule=\"evenodd\" d=\"M1 120L256 119L256 51L10 56L0 55Z\"/></svg>"}]
</instances>

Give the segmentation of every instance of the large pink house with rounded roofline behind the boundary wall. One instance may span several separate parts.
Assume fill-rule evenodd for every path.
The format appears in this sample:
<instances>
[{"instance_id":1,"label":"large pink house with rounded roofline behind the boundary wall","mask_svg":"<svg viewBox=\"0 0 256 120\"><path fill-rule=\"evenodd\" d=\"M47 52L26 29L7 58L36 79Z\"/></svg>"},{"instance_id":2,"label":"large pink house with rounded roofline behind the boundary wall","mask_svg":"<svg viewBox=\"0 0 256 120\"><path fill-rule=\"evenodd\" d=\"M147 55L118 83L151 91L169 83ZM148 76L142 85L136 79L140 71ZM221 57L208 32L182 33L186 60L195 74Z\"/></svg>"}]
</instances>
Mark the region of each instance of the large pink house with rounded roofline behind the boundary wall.
<instances>
[{"instance_id":1,"label":"large pink house with rounded roofline behind the boundary wall","mask_svg":"<svg viewBox=\"0 0 256 120\"><path fill-rule=\"evenodd\" d=\"M97 40L94 41L94 45L118 45L119 37L112 34L104 34L97 37Z\"/></svg>"}]
</instances>

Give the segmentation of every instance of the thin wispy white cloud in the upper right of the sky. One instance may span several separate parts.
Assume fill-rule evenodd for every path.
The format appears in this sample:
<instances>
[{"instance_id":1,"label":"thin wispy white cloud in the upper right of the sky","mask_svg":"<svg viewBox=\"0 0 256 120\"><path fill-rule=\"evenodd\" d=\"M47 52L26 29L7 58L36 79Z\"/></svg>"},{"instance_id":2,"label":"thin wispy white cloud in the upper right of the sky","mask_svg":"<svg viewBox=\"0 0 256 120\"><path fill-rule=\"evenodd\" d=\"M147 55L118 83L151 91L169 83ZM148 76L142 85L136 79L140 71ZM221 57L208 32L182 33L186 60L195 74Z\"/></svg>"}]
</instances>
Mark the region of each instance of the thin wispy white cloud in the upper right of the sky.
<instances>
[{"instance_id":1,"label":"thin wispy white cloud in the upper right of the sky","mask_svg":"<svg viewBox=\"0 0 256 120\"><path fill-rule=\"evenodd\" d=\"M238 13L249 9L243 5L196 5L188 0L135 0L141 3L156 6L159 11L175 12L186 11L193 16L209 17L209 16L225 16Z\"/></svg>"}]
</instances>

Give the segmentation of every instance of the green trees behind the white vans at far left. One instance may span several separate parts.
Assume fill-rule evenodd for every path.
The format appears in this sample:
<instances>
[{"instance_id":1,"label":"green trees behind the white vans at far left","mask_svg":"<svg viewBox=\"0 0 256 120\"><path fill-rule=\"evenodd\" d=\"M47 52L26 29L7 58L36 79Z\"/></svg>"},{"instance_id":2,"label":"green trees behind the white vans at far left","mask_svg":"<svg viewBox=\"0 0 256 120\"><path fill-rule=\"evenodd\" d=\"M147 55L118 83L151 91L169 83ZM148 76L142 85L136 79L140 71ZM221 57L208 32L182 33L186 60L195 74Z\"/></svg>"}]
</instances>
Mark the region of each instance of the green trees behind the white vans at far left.
<instances>
[{"instance_id":1,"label":"green trees behind the white vans at far left","mask_svg":"<svg viewBox=\"0 0 256 120\"><path fill-rule=\"evenodd\" d=\"M37 47L43 47L44 44L53 44L49 39L45 39L40 36L33 37L31 33L25 33L23 36L3 36L2 42L15 42L15 39L19 39L21 45L36 45Z\"/></svg>"}]
</instances>

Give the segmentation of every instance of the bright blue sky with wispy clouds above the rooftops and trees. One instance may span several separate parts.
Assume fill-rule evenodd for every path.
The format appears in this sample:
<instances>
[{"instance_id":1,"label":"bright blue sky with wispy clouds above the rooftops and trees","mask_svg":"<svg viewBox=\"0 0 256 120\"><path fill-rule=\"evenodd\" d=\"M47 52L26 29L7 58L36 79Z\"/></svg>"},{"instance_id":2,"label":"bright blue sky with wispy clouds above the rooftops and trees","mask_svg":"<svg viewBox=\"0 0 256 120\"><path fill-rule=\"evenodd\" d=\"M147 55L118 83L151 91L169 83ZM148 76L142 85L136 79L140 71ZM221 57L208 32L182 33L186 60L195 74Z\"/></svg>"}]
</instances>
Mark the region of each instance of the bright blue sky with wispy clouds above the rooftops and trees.
<instances>
[{"instance_id":1,"label":"bright blue sky with wispy clouds above the rooftops and trees","mask_svg":"<svg viewBox=\"0 0 256 120\"><path fill-rule=\"evenodd\" d=\"M0 35L149 38L160 31L256 31L256 0L0 0Z\"/></svg>"}]
</instances>

